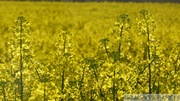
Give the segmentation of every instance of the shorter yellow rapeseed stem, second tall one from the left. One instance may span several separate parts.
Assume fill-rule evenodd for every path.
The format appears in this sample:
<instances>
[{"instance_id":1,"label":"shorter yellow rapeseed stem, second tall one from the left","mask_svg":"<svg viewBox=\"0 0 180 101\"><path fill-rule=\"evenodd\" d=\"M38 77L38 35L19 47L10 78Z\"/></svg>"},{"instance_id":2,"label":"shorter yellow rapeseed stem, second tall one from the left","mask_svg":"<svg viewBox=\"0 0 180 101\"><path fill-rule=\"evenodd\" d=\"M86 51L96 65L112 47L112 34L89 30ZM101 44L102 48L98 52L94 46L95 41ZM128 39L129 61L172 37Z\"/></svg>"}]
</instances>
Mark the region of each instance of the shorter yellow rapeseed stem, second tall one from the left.
<instances>
[{"instance_id":1,"label":"shorter yellow rapeseed stem, second tall one from the left","mask_svg":"<svg viewBox=\"0 0 180 101\"><path fill-rule=\"evenodd\" d=\"M59 73L61 78L61 91L62 94L65 90L66 84L66 71L72 67L73 59L74 59L74 53L73 53L73 40L72 40L72 34L69 31L62 30L59 34L55 47L57 49L57 60L58 60L58 67L59 67ZM63 100L63 98L60 98Z\"/></svg>"}]
</instances>

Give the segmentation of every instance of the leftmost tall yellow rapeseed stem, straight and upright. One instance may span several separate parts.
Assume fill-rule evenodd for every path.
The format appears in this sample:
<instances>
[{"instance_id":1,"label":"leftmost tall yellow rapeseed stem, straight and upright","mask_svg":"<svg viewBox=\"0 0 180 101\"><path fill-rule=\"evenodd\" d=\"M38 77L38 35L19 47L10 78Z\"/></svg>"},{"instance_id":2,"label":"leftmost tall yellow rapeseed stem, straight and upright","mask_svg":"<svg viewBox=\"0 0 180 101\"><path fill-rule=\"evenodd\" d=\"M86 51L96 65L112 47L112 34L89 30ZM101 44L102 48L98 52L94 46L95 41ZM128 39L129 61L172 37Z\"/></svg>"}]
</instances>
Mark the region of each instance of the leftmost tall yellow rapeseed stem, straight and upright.
<instances>
[{"instance_id":1,"label":"leftmost tall yellow rapeseed stem, straight and upright","mask_svg":"<svg viewBox=\"0 0 180 101\"><path fill-rule=\"evenodd\" d=\"M11 41L9 41L8 44L10 45L9 56L11 63L13 64L13 66L18 66L19 64L19 70L15 69L15 74L16 75L19 74L19 77L16 76L15 81L18 80L18 88L19 88L21 101L24 101L23 70L24 67L28 66L27 62L28 62L28 58L30 57L30 50L29 50L30 42L28 38L29 38L29 22L27 22L23 16L19 16L13 26L13 37L11 38Z\"/></svg>"}]
</instances>

